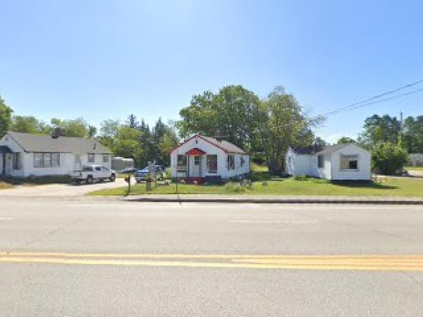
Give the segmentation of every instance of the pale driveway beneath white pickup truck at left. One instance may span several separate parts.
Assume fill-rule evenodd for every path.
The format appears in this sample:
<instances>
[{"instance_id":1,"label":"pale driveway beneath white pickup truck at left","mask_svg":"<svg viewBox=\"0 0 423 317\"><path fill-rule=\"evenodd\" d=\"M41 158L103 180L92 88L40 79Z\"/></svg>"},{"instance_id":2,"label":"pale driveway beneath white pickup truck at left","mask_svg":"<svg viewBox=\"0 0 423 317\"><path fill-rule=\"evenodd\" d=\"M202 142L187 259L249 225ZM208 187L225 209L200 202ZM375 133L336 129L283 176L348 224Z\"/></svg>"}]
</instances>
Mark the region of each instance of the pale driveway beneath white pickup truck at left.
<instances>
[{"instance_id":1,"label":"pale driveway beneath white pickup truck at left","mask_svg":"<svg viewBox=\"0 0 423 317\"><path fill-rule=\"evenodd\" d=\"M76 184L50 184L35 186L16 186L12 189L1 189L1 197L82 197L97 189L109 189L126 186L125 180L117 178L115 182L94 182L87 185Z\"/></svg>"}]
</instances>

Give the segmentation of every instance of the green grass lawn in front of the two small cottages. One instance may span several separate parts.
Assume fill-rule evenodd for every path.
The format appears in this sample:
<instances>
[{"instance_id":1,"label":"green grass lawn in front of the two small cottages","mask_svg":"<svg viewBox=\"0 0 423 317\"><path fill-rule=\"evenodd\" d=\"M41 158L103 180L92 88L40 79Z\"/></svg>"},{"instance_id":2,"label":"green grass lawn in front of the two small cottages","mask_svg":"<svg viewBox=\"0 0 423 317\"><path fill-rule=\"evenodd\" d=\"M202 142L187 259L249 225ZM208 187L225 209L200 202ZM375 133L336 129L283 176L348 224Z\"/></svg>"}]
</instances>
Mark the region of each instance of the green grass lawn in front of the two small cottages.
<instances>
[{"instance_id":1,"label":"green grass lawn in front of the two small cottages","mask_svg":"<svg viewBox=\"0 0 423 317\"><path fill-rule=\"evenodd\" d=\"M179 194L423 197L423 180L384 179L380 182L369 183L331 183L325 180L294 180L293 178L286 178L266 182L253 182L251 187L238 187L235 183L227 185L178 185L178 192ZM102 189L91 194L123 196L127 194L127 187ZM137 184L131 187L130 194L176 194L176 185L162 185L155 188L152 192L146 192L145 184Z\"/></svg>"}]
</instances>

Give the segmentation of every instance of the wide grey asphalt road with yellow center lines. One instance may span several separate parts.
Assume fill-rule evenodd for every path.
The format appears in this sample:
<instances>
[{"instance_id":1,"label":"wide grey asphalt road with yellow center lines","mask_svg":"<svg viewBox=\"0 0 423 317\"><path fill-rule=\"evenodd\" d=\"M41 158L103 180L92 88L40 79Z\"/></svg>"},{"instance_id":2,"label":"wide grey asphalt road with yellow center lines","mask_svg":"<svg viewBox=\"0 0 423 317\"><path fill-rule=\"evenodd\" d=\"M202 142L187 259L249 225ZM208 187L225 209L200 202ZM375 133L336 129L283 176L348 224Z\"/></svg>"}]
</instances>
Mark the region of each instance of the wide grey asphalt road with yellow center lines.
<instances>
[{"instance_id":1,"label":"wide grey asphalt road with yellow center lines","mask_svg":"<svg viewBox=\"0 0 423 317\"><path fill-rule=\"evenodd\" d=\"M423 207L0 197L1 316L421 316Z\"/></svg>"}]
</instances>

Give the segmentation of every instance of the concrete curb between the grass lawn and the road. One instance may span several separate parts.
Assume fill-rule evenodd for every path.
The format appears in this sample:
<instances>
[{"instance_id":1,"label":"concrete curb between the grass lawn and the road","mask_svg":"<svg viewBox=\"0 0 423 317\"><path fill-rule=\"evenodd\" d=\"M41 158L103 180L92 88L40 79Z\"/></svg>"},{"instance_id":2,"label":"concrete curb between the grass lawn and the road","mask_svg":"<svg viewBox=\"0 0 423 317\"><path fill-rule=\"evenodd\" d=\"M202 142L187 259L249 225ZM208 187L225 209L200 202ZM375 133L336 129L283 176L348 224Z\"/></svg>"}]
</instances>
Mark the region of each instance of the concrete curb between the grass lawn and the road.
<instances>
[{"instance_id":1,"label":"concrete curb between the grass lawn and the road","mask_svg":"<svg viewBox=\"0 0 423 317\"><path fill-rule=\"evenodd\" d=\"M124 197L121 201L132 202L177 202L217 204L381 204L381 205L423 205L423 199L255 199L255 198L173 198L173 197Z\"/></svg>"}]
</instances>

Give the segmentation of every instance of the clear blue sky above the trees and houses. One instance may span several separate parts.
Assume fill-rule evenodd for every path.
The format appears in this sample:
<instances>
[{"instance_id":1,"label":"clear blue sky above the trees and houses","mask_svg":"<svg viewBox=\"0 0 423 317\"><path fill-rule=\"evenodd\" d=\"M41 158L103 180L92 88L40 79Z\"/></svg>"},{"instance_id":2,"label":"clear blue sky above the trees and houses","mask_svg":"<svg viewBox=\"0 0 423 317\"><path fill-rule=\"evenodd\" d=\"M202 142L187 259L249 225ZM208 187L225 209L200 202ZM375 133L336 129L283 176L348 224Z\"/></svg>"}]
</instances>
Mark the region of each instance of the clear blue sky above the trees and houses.
<instances>
[{"instance_id":1,"label":"clear blue sky above the trees and houses","mask_svg":"<svg viewBox=\"0 0 423 317\"><path fill-rule=\"evenodd\" d=\"M16 113L99 125L178 119L192 94L277 85L310 114L423 78L422 1L0 0L0 94ZM422 85L423 86L423 85ZM327 118L423 114L423 92Z\"/></svg>"}]
</instances>

